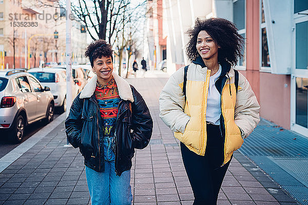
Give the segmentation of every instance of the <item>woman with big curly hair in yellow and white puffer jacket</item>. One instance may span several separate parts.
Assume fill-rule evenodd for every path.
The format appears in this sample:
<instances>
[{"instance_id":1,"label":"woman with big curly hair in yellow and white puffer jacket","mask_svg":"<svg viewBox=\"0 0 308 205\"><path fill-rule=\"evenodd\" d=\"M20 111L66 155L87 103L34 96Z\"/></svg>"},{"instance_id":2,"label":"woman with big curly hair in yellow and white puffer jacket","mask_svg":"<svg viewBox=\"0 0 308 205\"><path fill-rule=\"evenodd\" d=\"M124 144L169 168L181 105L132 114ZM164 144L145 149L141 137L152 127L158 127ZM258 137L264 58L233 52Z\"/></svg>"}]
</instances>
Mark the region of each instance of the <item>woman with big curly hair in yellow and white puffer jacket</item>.
<instances>
[{"instance_id":1,"label":"woman with big curly hair in yellow and white puffer jacket","mask_svg":"<svg viewBox=\"0 0 308 205\"><path fill-rule=\"evenodd\" d=\"M260 121L260 107L247 79L232 67L244 45L235 25L197 19L187 33L192 63L167 81L160 117L181 141L193 204L216 204L233 152Z\"/></svg>"}]
</instances>

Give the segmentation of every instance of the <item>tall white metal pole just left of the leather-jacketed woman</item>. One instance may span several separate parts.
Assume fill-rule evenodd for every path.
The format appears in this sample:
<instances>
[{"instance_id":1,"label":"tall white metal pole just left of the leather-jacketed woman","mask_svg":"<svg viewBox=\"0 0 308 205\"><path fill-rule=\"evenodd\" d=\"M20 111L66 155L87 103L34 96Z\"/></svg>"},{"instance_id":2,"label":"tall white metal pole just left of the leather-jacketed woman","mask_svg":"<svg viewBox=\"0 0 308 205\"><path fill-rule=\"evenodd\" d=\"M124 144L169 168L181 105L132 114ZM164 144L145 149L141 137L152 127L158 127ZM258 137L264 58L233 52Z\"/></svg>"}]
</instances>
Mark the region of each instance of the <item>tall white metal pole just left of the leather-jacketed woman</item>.
<instances>
[{"instance_id":1,"label":"tall white metal pole just left of the leather-jacketed woman","mask_svg":"<svg viewBox=\"0 0 308 205\"><path fill-rule=\"evenodd\" d=\"M66 116L72 104L72 62L71 62L71 8L66 0Z\"/></svg>"}]
</instances>

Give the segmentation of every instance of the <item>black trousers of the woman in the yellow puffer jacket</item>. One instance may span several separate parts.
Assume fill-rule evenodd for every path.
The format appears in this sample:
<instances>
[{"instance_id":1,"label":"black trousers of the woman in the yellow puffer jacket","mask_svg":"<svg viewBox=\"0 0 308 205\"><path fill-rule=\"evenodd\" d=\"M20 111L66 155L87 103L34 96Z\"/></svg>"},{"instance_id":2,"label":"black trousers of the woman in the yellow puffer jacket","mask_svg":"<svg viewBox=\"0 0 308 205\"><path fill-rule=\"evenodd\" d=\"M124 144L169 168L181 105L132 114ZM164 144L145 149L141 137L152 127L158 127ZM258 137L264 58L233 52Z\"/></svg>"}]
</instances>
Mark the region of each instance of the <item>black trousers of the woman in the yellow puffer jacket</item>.
<instances>
[{"instance_id":1,"label":"black trousers of the woman in the yellow puffer jacket","mask_svg":"<svg viewBox=\"0 0 308 205\"><path fill-rule=\"evenodd\" d=\"M219 126L206 125L207 143L205 155L201 156L190 151L181 142L181 153L184 167L194 192L193 205L216 204L223 178L229 167L224 161L224 142Z\"/></svg>"}]
</instances>

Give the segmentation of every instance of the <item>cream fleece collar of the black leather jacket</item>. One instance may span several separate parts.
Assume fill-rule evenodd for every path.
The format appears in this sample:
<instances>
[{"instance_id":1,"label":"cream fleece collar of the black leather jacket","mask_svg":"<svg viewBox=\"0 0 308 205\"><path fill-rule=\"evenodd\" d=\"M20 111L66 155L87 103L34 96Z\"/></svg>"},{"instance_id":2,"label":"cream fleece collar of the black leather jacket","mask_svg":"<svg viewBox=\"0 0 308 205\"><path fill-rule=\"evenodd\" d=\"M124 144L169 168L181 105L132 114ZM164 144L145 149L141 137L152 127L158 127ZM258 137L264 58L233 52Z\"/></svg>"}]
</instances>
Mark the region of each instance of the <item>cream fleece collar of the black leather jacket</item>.
<instances>
[{"instance_id":1,"label":"cream fleece collar of the black leather jacket","mask_svg":"<svg viewBox=\"0 0 308 205\"><path fill-rule=\"evenodd\" d=\"M115 83L118 86L119 96L121 97L121 99L129 100L131 101L131 103L133 103L132 91L127 81L120 77L117 73L113 72L112 76L114 77ZM87 85L81 91L79 98L89 98L93 95L97 85L97 79L97 75L94 75L92 77L89 83L87 83Z\"/></svg>"}]
</instances>

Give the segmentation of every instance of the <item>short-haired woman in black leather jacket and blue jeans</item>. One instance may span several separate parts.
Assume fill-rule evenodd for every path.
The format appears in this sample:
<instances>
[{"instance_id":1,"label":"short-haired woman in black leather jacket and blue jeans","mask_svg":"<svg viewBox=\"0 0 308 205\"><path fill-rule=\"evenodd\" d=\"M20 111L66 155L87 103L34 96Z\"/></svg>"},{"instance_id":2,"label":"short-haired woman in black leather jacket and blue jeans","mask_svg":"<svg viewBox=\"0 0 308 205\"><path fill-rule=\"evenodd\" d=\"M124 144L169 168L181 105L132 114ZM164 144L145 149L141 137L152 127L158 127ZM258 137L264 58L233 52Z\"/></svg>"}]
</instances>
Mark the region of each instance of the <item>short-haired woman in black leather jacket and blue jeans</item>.
<instances>
[{"instance_id":1,"label":"short-haired woman in black leather jacket and blue jeans","mask_svg":"<svg viewBox=\"0 0 308 205\"><path fill-rule=\"evenodd\" d=\"M84 156L93 205L131 204L131 158L145 148L153 121L137 90L113 73L112 47L105 40L86 49L96 74L76 96L65 132L70 144Z\"/></svg>"}]
</instances>

